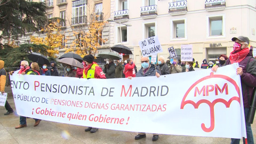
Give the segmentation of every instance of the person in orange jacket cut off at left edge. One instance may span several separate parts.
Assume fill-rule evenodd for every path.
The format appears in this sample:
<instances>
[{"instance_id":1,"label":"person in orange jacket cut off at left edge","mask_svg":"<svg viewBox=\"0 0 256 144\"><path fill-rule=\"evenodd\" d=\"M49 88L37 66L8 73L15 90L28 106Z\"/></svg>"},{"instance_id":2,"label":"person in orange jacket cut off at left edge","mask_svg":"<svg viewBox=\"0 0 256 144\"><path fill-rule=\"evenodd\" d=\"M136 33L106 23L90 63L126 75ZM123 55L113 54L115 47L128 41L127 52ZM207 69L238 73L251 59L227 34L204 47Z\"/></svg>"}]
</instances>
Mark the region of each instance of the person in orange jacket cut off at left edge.
<instances>
[{"instance_id":1,"label":"person in orange jacket cut off at left edge","mask_svg":"<svg viewBox=\"0 0 256 144\"><path fill-rule=\"evenodd\" d=\"M4 69L4 61L0 60L0 91L2 94L4 93L5 83L6 83L6 71ZM10 115L11 113L13 113L13 109L9 105L7 100L5 102L4 107L7 110L7 112L4 113L4 115Z\"/></svg>"}]
</instances>

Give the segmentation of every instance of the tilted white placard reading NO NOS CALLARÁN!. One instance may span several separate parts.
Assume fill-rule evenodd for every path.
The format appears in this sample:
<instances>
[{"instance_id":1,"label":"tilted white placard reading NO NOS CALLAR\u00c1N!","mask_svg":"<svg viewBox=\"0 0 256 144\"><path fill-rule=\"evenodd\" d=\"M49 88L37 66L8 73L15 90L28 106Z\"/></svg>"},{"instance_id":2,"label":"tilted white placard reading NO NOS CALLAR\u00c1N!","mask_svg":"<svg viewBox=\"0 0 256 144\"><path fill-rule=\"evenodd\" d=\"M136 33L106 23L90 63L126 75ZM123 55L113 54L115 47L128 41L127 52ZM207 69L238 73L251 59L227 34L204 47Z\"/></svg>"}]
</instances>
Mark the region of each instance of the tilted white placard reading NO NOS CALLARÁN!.
<instances>
[{"instance_id":1,"label":"tilted white placard reading NO NOS CALLAR\u00c1N!","mask_svg":"<svg viewBox=\"0 0 256 144\"><path fill-rule=\"evenodd\" d=\"M143 57L148 57L150 55L156 55L157 53L163 52L157 36L140 41L139 46Z\"/></svg>"}]
</instances>

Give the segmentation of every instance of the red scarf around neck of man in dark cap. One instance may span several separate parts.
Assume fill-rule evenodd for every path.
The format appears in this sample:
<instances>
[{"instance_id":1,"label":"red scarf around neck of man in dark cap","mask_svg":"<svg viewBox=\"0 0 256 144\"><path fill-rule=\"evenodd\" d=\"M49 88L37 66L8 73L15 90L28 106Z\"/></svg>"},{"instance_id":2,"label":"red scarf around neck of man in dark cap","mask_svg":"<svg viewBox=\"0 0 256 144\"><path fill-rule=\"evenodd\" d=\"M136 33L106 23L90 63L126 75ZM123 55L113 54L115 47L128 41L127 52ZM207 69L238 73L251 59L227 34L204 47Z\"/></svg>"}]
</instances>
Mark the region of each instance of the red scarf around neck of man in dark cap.
<instances>
[{"instance_id":1,"label":"red scarf around neck of man in dark cap","mask_svg":"<svg viewBox=\"0 0 256 144\"><path fill-rule=\"evenodd\" d=\"M236 53L234 51L231 52L230 57L229 57L231 64L234 62L241 62L249 52L250 52L250 49L248 49L248 48L245 48Z\"/></svg>"}]
</instances>

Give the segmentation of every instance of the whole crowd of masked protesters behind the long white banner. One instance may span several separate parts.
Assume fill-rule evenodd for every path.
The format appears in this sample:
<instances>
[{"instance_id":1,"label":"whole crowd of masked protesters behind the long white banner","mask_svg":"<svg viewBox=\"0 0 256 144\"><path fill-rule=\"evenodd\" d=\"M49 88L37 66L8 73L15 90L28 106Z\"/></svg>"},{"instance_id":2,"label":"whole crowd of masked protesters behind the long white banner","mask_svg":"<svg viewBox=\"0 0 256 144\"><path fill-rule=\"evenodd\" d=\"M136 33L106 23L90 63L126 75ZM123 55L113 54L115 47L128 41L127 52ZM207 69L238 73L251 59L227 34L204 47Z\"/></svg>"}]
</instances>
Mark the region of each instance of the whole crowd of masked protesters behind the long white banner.
<instances>
[{"instance_id":1,"label":"whole crowd of masked protesters behind the long white banner","mask_svg":"<svg viewBox=\"0 0 256 144\"><path fill-rule=\"evenodd\" d=\"M113 60L108 59L108 63L104 66L103 70L99 67L99 65L94 62L94 56L93 55L86 55L83 58L83 69L67 66L65 74L66 77L78 77L78 78L129 78L132 79L132 77L147 77L147 76L156 76L159 77L160 75L168 75L168 74L175 74L175 73L182 73L182 72L189 72L189 71L195 71L195 69L212 69L212 71L217 71L218 67L230 65L234 62L239 62L241 65L248 65L247 69L245 67L237 68L237 74L241 76L241 82L242 82L242 89L246 89L248 92L250 91L250 94L252 93L253 87L256 87L256 72L255 72L255 61L251 59L252 57L252 49L248 47L250 41L249 38L244 36L234 37L232 38L232 41L235 42L234 44L234 51L230 53L232 57L228 58L227 55L221 54L218 58L215 59L215 62L209 61L207 62L206 59L203 60L203 63L201 66L198 65L198 62L195 62L195 59L193 61L180 61L177 58L173 58L171 61L170 59L167 59L165 61L165 58L163 56L158 57L158 61L156 63L150 62L149 57L141 57L141 68L137 71L137 67L135 66L135 62L132 59L126 59L123 60ZM237 57L238 55L238 57ZM236 59L237 58L237 59ZM246 64L247 63L247 64ZM0 90L3 93L4 92L4 85L5 82L3 82L3 79L6 77L6 71L3 69L4 67L4 61L0 61L0 79L1 79L1 87ZM254 68L254 69L253 69ZM11 71L10 74L12 75L14 72ZM20 63L20 70L18 70L19 74L27 74L27 75L45 75L45 76L59 76L58 70L56 67L56 63L54 61L50 62L50 66L47 66L46 64L42 66L42 68L38 67L38 64L36 62L31 63L29 66L27 61L21 61ZM248 84L245 83L244 79L251 79L251 84L248 86ZM244 88L245 87L245 88ZM249 93L247 91L243 91L243 95L248 95ZM244 93L245 92L245 93ZM249 97L243 97L244 101L244 111L245 111L245 120L246 115L249 110L249 101L251 99L251 96L249 94ZM5 106L7 113L4 115L9 115L13 113L13 109L9 105L9 103L6 101ZM34 126L37 126L40 123L40 119L35 119ZM20 116L20 124L15 127L15 129L20 129L22 127L26 127L26 117ZM97 132L97 127L87 127L85 129L86 132ZM246 123L246 131L247 131L247 138L248 143L253 143L253 135L251 131L251 125ZM146 137L146 133L139 132L138 135L135 136L135 140L139 140ZM158 134L153 134L153 141L158 140L159 136ZM232 139L232 142L239 143L238 139ZM232 143L231 142L231 143Z\"/></svg>"}]
</instances>

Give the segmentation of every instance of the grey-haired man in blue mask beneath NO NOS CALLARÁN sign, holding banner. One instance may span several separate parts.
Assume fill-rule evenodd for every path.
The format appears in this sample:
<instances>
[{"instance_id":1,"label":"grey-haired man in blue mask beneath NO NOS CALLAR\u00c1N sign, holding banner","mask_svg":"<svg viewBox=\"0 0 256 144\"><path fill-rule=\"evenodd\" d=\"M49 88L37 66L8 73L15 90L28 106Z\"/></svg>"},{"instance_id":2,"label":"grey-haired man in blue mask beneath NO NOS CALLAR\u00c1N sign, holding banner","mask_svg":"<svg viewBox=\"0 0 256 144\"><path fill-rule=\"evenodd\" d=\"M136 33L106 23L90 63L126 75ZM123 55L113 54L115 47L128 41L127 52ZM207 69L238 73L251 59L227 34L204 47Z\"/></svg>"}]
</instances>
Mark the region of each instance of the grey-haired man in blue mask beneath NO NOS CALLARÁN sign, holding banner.
<instances>
[{"instance_id":1,"label":"grey-haired man in blue mask beneath NO NOS CALLAR\u00c1N sign, holding banner","mask_svg":"<svg viewBox=\"0 0 256 144\"><path fill-rule=\"evenodd\" d=\"M136 74L136 77L146 77L146 76L157 76L160 77L160 71L155 68L154 65L149 64L149 57L141 57L141 69ZM132 76L128 77L132 79ZM153 141L158 140L158 134L153 133ZM145 132L139 132L138 135L135 136L135 140L139 140L142 138L146 138Z\"/></svg>"}]
</instances>

